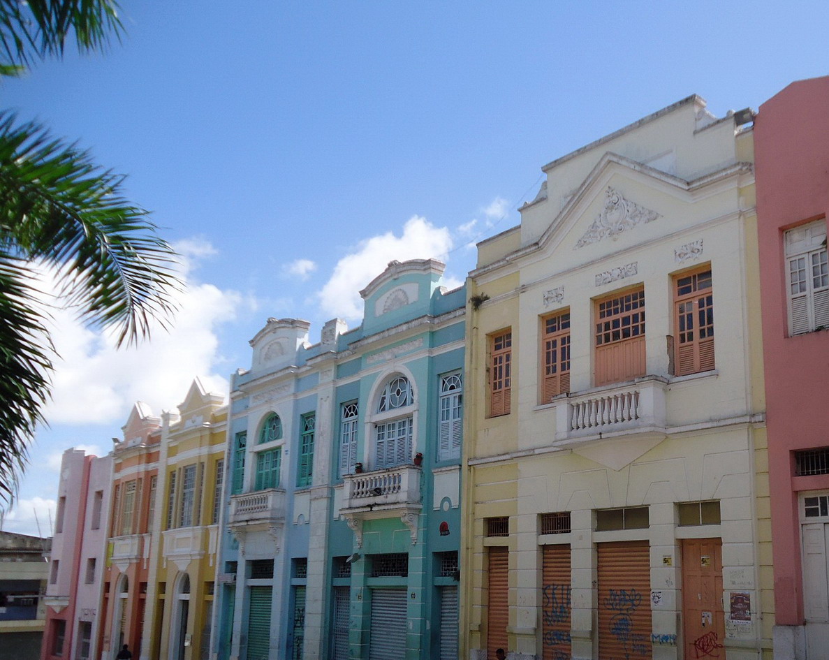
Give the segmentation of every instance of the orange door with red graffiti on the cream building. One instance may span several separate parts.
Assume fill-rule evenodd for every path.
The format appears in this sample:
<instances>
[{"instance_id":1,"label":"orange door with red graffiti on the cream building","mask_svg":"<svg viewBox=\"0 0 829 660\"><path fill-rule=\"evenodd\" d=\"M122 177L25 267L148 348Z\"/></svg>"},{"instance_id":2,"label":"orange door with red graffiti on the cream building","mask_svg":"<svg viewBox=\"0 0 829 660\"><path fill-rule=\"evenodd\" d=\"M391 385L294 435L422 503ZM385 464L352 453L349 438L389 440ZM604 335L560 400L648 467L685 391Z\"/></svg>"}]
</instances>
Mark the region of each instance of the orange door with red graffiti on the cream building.
<instances>
[{"instance_id":1,"label":"orange door with red graffiti on the cream building","mask_svg":"<svg viewBox=\"0 0 829 660\"><path fill-rule=\"evenodd\" d=\"M685 657L725 658L721 539L682 541Z\"/></svg>"}]
</instances>

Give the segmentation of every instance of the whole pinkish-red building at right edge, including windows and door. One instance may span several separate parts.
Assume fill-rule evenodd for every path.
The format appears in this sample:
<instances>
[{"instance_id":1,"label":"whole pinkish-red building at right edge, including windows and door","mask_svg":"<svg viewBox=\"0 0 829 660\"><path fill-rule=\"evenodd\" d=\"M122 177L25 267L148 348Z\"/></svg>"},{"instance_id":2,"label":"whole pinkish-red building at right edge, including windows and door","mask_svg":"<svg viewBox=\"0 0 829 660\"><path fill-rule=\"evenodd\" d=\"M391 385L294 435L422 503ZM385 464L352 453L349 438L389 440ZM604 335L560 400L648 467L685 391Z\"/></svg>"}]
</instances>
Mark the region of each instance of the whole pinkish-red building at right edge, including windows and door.
<instances>
[{"instance_id":1,"label":"whole pinkish-red building at right edge, including windows and door","mask_svg":"<svg viewBox=\"0 0 829 660\"><path fill-rule=\"evenodd\" d=\"M754 120L775 658L829 649L829 76Z\"/></svg>"}]
</instances>

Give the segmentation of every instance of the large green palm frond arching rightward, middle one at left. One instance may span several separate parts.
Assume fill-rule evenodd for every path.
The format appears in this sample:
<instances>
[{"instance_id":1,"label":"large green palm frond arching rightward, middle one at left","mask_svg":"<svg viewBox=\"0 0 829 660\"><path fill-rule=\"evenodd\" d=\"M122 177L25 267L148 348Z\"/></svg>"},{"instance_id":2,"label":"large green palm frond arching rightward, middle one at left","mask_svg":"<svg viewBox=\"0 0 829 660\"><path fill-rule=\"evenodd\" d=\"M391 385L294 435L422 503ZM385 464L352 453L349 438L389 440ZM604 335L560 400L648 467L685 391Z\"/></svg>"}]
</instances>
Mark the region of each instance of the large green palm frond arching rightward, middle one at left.
<instances>
[{"instance_id":1,"label":"large green palm frond arching rightward, middle one at left","mask_svg":"<svg viewBox=\"0 0 829 660\"><path fill-rule=\"evenodd\" d=\"M64 302L118 343L165 323L181 286L176 254L122 195L124 177L96 166L35 123L0 112L0 250L54 266Z\"/></svg>"}]
</instances>

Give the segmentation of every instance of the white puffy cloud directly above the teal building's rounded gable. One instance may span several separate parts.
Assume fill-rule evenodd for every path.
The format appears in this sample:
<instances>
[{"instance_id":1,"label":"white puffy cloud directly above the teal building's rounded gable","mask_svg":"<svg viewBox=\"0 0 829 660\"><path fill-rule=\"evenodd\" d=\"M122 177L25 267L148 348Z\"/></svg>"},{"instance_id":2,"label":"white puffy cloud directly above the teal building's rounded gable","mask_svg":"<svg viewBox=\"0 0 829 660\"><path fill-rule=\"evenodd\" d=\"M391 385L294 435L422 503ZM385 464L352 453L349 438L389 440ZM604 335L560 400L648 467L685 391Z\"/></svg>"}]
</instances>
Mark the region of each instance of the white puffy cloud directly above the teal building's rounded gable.
<instances>
[{"instance_id":1,"label":"white puffy cloud directly above the teal building's rounded gable","mask_svg":"<svg viewBox=\"0 0 829 660\"><path fill-rule=\"evenodd\" d=\"M320 307L328 318L362 317L360 289L381 274L391 260L447 259L452 237L446 227L436 227L421 216L412 216L403 234L391 231L372 236L342 257L319 294Z\"/></svg>"}]
</instances>

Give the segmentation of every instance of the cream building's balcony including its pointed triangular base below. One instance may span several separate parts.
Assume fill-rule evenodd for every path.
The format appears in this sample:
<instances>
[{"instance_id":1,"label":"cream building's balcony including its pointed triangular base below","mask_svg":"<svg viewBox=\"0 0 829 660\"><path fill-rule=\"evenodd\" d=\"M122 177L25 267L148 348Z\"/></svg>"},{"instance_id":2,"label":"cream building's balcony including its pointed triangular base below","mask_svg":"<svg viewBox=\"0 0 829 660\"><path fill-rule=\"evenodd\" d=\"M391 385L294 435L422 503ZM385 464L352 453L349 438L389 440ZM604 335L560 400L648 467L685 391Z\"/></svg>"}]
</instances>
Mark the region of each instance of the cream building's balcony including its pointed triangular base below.
<instances>
[{"instance_id":1,"label":"cream building's balcony including its pointed triangular base below","mask_svg":"<svg viewBox=\"0 0 829 660\"><path fill-rule=\"evenodd\" d=\"M666 390L664 378L642 376L557 397L553 444L620 469L667 437Z\"/></svg>"}]
</instances>

